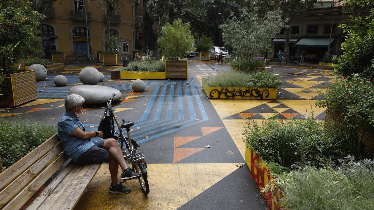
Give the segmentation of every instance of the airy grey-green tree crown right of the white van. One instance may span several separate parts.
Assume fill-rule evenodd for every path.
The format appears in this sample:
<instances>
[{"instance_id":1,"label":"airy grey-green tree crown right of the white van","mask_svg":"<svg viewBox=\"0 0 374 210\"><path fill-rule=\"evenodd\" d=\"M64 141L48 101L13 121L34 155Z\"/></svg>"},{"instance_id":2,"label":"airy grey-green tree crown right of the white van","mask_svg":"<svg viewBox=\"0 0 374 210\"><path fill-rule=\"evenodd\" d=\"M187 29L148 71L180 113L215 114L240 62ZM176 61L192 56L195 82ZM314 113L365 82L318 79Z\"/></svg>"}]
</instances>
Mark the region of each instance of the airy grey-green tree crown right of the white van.
<instances>
[{"instance_id":1,"label":"airy grey-green tree crown right of the white van","mask_svg":"<svg viewBox=\"0 0 374 210\"><path fill-rule=\"evenodd\" d=\"M271 51L271 37L279 33L284 25L281 12L277 9L260 17L254 10L245 9L239 18L232 14L226 24L220 25L223 40L246 61Z\"/></svg>"}]
</instances>

